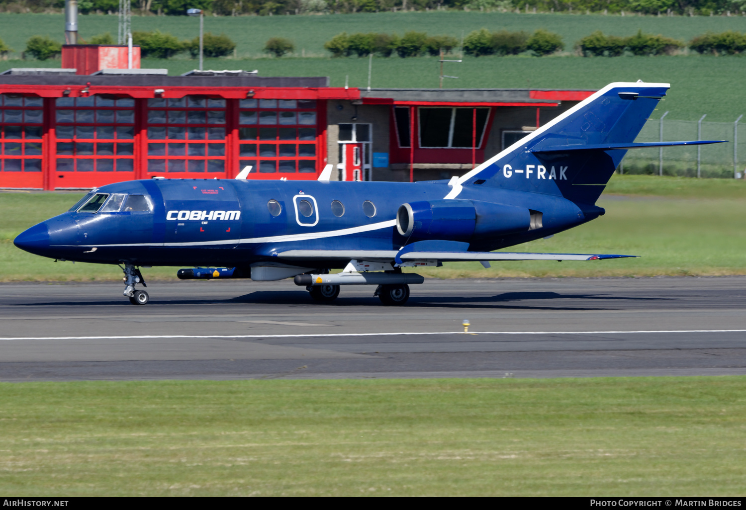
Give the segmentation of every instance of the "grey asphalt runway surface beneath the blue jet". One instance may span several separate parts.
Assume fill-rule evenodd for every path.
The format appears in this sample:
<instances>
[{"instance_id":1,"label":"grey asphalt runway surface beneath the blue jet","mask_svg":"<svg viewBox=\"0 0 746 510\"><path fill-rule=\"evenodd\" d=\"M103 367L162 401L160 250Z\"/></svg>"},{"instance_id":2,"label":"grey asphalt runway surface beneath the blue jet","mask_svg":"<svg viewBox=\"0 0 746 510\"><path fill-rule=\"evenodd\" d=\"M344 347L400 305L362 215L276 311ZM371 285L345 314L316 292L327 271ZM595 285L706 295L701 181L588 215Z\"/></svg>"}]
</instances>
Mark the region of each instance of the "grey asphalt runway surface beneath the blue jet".
<instances>
[{"instance_id":1,"label":"grey asphalt runway surface beneath the blue jet","mask_svg":"<svg viewBox=\"0 0 746 510\"><path fill-rule=\"evenodd\" d=\"M0 284L0 380L746 374L746 277L426 280L402 307L292 280L122 289Z\"/></svg>"}]
</instances>

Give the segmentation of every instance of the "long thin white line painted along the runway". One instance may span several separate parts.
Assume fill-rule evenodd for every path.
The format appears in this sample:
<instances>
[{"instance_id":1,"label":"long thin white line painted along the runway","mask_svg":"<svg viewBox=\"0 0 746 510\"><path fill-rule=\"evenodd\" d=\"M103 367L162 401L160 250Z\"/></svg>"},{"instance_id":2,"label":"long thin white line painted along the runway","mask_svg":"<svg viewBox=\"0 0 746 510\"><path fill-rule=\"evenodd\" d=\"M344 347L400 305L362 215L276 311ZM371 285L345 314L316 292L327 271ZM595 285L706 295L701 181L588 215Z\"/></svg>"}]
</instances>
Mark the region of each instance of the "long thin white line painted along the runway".
<instances>
[{"instance_id":1,"label":"long thin white line painted along the runway","mask_svg":"<svg viewBox=\"0 0 746 510\"><path fill-rule=\"evenodd\" d=\"M301 335L128 335L128 336L3 336L2 340L117 340L117 339L297 339L336 336L417 335L618 335L635 333L746 333L746 330L637 330L637 331L430 331L401 333L307 333Z\"/></svg>"}]
</instances>

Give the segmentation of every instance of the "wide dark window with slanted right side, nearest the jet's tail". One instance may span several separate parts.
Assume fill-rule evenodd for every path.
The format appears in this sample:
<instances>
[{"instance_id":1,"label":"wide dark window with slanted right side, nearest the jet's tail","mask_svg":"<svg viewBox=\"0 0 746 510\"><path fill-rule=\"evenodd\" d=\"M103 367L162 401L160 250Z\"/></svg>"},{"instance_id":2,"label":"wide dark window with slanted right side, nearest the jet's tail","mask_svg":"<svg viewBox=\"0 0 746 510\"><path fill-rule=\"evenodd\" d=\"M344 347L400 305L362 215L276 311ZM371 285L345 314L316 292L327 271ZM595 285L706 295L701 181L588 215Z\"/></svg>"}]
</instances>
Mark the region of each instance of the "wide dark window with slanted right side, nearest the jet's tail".
<instances>
[{"instance_id":1,"label":"wide dark window with slanted right side, nearest the jet's tail","mask_svg":"<svg viewBox=\"0 0 746 510\"><path fill-rule=\"evenodd\" d=\"M480 147L489 108L419 108L421 148ZM477 113L474 139L474 110Z\"/></svg>"}]
</instances>

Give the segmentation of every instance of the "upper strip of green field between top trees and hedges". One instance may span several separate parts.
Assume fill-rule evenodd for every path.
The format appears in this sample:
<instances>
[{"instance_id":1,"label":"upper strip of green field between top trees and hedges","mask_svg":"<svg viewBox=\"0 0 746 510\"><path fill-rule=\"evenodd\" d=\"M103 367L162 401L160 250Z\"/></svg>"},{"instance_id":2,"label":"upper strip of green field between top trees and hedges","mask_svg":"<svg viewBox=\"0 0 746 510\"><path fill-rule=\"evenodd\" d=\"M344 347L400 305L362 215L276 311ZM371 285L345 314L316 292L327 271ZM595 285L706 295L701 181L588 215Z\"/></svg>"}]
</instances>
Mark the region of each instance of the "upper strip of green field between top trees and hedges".
<instances>
[{"instance_id":1,"label":"upper strip of green field between top trees and hedges","mask_svg":"<svg viewBox=\"0 0 746 510\"><path fill-rule=\"evenodd\" d=\"M135 11L133 11L135 12ZM116 37L117 17L89 15L79 16L81 37L110 32ZM706 31L746 31L744 16L603 16L569 14L515 14L480 13L457 11L430 11L405 13L358 13L329 16L223 16L207 17L204 30L225 33L236 42L239 56L256 57L262 52L270 37L287 37L295 42L298 53L307 56L326 54L324 42L342 31L386 32L404 34L406 31L424 31L428 34L446 34L460 39L463 35L480 28L490 30L533 32L537 28L557 32L565 42L565 50L572 51L577 40L592 31L628 36L636 31L662 34L689 41ZM199 30L198 19L187 16L133 16L133 31L159 29L170 32L180 39L193 39ZM28 37L48 34L60 42L63 40L64 16L62 14L10 14L0 13L0 36L20 52Z\"/></svg>"}]
</instances>

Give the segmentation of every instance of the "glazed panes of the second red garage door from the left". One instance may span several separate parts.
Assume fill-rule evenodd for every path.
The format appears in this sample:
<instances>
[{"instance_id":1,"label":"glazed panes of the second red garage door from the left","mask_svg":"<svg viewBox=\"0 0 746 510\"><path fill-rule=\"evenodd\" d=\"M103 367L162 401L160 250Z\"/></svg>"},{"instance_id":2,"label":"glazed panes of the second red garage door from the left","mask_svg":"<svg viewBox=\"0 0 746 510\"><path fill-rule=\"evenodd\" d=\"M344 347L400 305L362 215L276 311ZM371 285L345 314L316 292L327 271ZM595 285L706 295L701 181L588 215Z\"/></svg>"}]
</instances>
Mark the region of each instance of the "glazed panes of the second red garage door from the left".
<instances>
[{"instance_id":1,"label":"glazed panes of the second red garage door from the left","mask_svg":"<svg viewBox=\"0 0 746 510\"><path fill-rule=\"evenodd\" d=\"M57 171L134 171L134 99L57 98Z\"/></svg>"}]
</instances>

